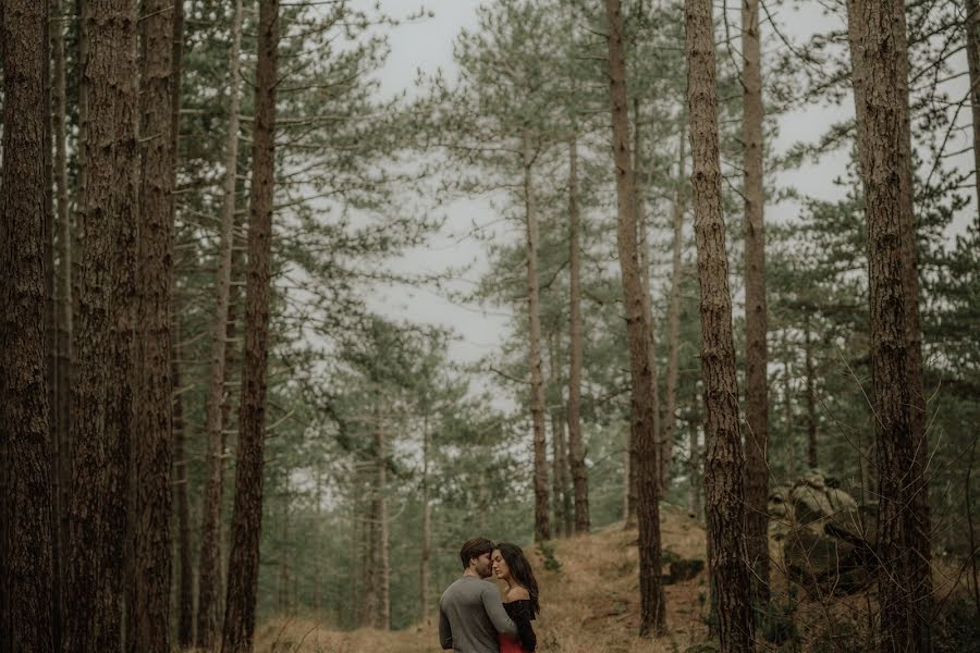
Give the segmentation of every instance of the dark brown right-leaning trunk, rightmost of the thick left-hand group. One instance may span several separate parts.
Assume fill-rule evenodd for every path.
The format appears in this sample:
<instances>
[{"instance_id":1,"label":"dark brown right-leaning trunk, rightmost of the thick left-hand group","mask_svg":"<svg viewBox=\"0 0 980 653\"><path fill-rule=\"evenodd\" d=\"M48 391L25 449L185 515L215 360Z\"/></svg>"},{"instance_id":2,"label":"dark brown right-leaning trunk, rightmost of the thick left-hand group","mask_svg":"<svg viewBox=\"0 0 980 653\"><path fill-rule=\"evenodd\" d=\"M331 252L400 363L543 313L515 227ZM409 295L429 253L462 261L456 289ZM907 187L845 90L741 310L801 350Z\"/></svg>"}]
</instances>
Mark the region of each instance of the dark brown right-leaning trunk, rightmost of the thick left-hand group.
<instances>
[{"instance_id":1,"label":"dark brown right-leaning trunk, rightmost of the thick left-hand group","mask_svg":"<svg viewBox=\"0 0 980 653\"><path fill-rule=\"evenodd\" d=\"M255 128L249 190L245 347L238 418L235 504L229 556L223 653L252 653L262 525L262 451L266 435L266 357L271 299L272 197L279 1L259 0Z\"/></svg>"}]
</instances>

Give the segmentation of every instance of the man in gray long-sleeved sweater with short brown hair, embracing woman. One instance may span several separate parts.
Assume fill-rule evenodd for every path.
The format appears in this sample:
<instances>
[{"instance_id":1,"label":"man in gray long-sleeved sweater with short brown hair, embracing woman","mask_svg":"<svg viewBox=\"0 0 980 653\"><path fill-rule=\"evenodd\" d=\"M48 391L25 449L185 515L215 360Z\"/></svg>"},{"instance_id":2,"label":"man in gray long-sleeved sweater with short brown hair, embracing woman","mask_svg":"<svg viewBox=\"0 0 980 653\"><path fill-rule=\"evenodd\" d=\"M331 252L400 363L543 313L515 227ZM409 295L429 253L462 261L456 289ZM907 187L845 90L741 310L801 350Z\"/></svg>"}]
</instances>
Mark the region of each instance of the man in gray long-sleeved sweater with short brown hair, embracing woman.
<instances>
[{"instance_id":1,"label":"man in gray long-sleeved sweater with short brown hair, embracing woman","mask_svg":"<svg viewBox=\"0 0 980 653\"><path fill-rule=\"evenodd\" d=\"M460 551L463 576L439 600L439 643L445 650L498 653L499 632L517 634L497 586L483 580L490 576L491 553L493 542L486 538L474 538Z\"/></svg>"}]
</instances>

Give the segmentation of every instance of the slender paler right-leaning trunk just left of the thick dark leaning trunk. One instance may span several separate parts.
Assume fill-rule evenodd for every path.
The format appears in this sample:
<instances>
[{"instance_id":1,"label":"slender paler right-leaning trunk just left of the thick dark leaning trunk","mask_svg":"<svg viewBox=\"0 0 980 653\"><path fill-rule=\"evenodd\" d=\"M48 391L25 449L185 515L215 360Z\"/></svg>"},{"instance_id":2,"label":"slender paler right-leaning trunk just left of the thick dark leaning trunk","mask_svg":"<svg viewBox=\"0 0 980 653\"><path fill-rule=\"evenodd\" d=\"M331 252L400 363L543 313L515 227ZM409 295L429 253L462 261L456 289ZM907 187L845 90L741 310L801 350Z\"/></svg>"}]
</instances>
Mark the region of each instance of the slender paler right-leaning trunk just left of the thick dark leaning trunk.
<instances>
[{"instance_id":1,"label":"slender paler right-leaning trunk just left of the thick dark leaning trunk","mask_svg":"<svg viewBox=\"0 0 980 653\"><path fill-rule=\"evenodd\" d=\"M211 361L207 394L207 477L201 509L200 574L197 588L197 645L209 649L217 639L218 603L221 592L221 504L223 485L224 397L226 330L231 287L235 177L238 162L240 59L242 50L242 0L235 0L231 25L232 46L228 75L228 143L224 150L224 204L219 235L218 275L215 280L215 313L211 322Z\"/></svg>"}]
</instances>

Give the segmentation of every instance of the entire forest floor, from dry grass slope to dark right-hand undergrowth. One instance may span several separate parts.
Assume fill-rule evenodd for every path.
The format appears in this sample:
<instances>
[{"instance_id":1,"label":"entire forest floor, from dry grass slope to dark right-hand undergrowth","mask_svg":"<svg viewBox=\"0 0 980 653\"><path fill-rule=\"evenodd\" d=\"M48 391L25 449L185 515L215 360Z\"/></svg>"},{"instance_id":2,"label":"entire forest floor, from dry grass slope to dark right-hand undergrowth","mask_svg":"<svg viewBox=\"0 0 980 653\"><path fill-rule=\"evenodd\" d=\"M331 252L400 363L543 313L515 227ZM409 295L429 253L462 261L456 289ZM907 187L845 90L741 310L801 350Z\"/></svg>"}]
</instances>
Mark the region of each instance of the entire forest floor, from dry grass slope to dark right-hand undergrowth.
<instances>
[{"instance_id":1,"label":"entire forest floor, from dry grass slope to dark right-hand undergrowth","mask_svg":"<svg viewBox=\"0 0 980 653\"><path fill-rule=\"evenodd\" d=\"M661 504L661 537L664 565L672 559L705 559L703 525L677 506ZM538 547L528 547L541 595L541 614L535 623L539 653L683 653L695 644L710 642L708 632L708 574L702 569L694 578L664 587L667 634L640 639L639 580L636 529L624 530L613 523L588 535L552 542L546 565ZM872 650L870 632L877 612L871 592L850 596L810 597L799 595L795 584L782 572L779 547L770 541L772 555L771 588L775 611L757 630L758 650L775 652L772 639L786 642L786 650L837 652ZM948 568L946 568L948 567ZM934 565L933 582L938 594L947 600L963 593L959 575L952 564ZM791 597L792 596L792 597ZM792 606L792 607L789 607ZM969 617L968 617L969 618ZM946 624L936 624L939 639ZM952 630L960 631L960 625ZM970 629L972 632L972 629ZM776 637L782 634L782 637ZM965 633L963 633L965 634ZM961 637L950 632L947 636ZM965 641L973 639L966 634ZM964 641L964 640L960 640ZM941 642L938 642L941 643ZM970 645L967 645L970 649ZM716 650L710 644L699 653ZM938 650L963 651L963 644ZM980 650L980 645L977 649ZM313 620L279 618L260 626L256 633L257 653L437 653L440 651L437 624L383 632L371 629L331 631Z\"/></svg>"}]
</instances>

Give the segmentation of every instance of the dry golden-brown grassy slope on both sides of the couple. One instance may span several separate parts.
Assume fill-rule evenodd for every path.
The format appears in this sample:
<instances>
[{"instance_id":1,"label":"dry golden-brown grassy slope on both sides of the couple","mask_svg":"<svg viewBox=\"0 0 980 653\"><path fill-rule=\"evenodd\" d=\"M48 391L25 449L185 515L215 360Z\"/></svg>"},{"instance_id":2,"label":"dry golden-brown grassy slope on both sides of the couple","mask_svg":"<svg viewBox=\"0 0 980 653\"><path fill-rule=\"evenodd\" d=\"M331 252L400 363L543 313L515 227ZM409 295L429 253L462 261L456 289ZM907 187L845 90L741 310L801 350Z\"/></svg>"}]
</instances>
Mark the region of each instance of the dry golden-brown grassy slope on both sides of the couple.
<instances>
[{"instance_id":1,"label":"dry golden-brown grassy slope on both sides of the couple","mask_svg":"<svg viewBox=\"0 0 980 653\"><path fill-rule=\"evenodd\" d=\"M663 506L664 556L703 558L705 530L678 508ZM707 638L707 574L666 587L671 634L660 641L639 640L637 532L613 525L589 535L554 542L560 569L546 569L534 553L541 586L542 613L535 629L539 651L567 653L652 653L684 651ZM259 628L261 653L421 653L439 651L436 625L397 632L362 629L331 632L313 621L278 619Z\"/></svg>"}]
</instances>

